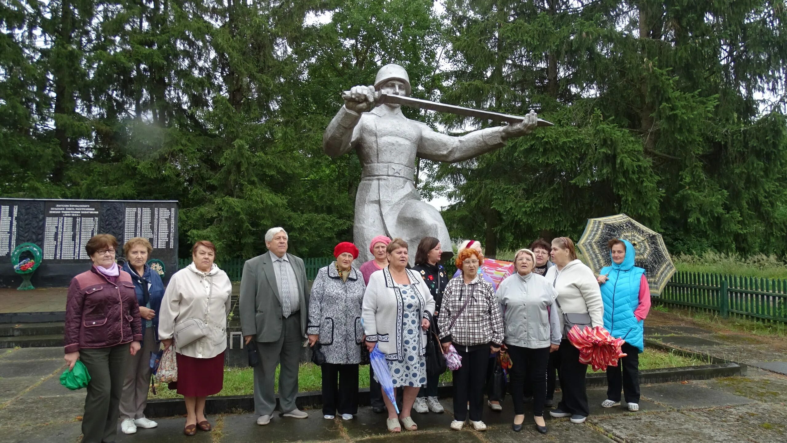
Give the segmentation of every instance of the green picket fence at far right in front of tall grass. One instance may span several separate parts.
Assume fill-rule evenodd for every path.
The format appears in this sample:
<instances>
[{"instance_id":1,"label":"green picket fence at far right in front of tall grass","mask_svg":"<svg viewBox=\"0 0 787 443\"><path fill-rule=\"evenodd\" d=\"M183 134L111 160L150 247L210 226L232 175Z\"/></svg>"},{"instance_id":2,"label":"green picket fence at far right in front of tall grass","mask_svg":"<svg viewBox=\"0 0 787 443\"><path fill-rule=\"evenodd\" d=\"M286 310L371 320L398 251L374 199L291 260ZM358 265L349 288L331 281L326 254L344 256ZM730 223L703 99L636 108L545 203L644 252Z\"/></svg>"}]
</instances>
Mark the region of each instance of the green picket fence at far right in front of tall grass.
<instances>
[{"instance_id":1,"label":"green picket fence at far right in front of tall grass","mask_svg":"<svg viewBox=\"0 0 787 443\"><path fill-rule=\"evenodd\" d=\"M787 280L678 272L658 301L716 311L723 318L787 323Z\"/></svg>"}]
</instances>

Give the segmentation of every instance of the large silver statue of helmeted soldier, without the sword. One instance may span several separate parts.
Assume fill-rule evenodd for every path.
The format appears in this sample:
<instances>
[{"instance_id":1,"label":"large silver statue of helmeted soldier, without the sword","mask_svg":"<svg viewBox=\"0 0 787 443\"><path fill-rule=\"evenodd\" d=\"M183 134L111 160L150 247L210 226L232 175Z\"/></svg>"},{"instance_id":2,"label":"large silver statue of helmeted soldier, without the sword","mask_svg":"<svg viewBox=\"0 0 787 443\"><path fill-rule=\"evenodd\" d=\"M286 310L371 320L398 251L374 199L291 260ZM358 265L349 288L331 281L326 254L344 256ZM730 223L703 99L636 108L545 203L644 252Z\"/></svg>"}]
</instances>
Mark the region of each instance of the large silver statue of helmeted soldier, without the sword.
<instances>
[{"instance_id":1,"label":"large silver statue of helmeted soldier, without the sword","mask_svg":"<svg viewBox=\"0 0 787 443\"><path fill-rule=\"evenodd\" d=\"M400 104L379 104L378 94L409 96L405 68L386 64L377 72L375 86L353 86L345 103L323 134L328 156L342 156L355 148L363 166L355 200L354 243L361 262L370 260L369 242L379 235L400 237L410 263L424 236L437 237L449 258L451 238L440 212L420 200L413 181L416 156L438 162L460 162L501 148L512 137L529 134L538 124L535 112L520 123L475 130L452 137L407 119Z\"/></svg>"}]
</instances>

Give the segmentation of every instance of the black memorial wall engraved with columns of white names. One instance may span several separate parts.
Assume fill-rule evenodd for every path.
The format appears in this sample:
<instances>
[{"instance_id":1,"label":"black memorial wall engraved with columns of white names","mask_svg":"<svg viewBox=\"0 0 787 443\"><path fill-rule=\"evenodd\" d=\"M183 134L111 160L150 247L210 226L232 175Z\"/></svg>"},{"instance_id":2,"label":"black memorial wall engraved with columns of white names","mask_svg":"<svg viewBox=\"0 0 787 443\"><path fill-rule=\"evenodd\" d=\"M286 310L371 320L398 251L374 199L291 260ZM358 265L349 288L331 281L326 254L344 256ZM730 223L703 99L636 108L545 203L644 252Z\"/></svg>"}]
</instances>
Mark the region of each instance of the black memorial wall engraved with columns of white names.
<instances>
[{"instance_id":1,"label":"black memorial wall engraved with columns of white names","mask_svg":"<svg viewBox=\"0 0 787 443\"><path fill-rule=\"evenodd\" d=\"M153 200L29 200L0 198L0 287L22 281L11 265L21 243L35 243L43 259L35 271L35 287L68 286L72 277L89 269L85 243L99 233L112 234L124 256L126 240L150 240L153 254L164 262L164 282L178 270L178 202Z\"/></svg>"}]
</instances>

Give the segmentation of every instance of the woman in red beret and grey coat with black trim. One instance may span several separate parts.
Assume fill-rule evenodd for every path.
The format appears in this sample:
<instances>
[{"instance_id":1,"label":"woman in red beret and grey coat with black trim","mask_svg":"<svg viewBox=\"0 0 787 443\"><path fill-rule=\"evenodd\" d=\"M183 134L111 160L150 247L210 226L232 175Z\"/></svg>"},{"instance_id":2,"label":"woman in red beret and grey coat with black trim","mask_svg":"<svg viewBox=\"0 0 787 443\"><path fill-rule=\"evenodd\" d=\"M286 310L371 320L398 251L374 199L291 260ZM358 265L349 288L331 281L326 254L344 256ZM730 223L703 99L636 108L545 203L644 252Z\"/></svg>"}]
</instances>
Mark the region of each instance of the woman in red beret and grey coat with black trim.
<instances>
[{"instance_id":1,"label":"woman in red beret and grey coat with black trim","mask_svg":"<svg viewBox=\"0 0 787 443\"><path fill-rule=\"evenodd\" d=\"M353 419L358 413L358 364L364 346L360 308L364 301L364 276L353 267L358 248L338 243L336 261L317 273L309 300L309 346L320 342L325 354L323 370L323 416Z\"/></svg>"}]
</instances>

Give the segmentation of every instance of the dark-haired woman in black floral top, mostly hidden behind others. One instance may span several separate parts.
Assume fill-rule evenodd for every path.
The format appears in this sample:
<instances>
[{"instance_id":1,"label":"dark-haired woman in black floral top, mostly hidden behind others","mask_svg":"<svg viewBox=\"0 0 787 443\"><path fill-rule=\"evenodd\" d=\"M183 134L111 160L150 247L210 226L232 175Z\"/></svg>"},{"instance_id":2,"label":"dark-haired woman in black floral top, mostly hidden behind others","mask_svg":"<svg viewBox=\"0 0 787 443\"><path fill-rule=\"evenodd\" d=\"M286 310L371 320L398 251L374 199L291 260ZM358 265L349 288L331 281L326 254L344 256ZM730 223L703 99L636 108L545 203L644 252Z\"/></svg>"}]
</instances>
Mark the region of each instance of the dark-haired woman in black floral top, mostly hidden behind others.
<instances>
[{"instance_id":1,"label":"dark-haired woman in black floral top, mostly hidden behind others","mask_svg":"<svg viewBox=\"0 0 787 443\"><path fill-rule=\"evenodd\" d=\"M439 263L442 256L442 245L440 240L434 237L423 237L418 243L416 250L416 265L412 267L413 270L421 273L421 278L426 282L429 291L434 298L435 308L434 317L440 315L440 303L442 302L442 293L445 291L445 286L448 284L448 275L445 273L445 268ZM435 325L437 320L434 320ZM438 401L438 383L440 382L440 375L427 375L427 386L422 386L416 398L416 403L412 408L416 412L443 412L445 409Z\"/></svg>"}]
</instances>

